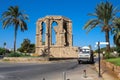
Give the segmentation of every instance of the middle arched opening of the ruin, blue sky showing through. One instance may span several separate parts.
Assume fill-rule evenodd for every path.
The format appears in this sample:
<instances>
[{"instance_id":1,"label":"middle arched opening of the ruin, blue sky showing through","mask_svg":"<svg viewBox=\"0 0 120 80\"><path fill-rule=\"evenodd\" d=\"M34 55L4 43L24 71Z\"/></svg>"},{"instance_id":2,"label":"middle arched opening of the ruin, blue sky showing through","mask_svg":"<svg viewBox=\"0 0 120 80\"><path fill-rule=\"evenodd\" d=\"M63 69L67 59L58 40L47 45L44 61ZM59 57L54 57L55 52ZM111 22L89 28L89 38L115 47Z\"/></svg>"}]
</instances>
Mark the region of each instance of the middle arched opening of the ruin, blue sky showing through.
<instances>
[{"instance_id":1,"label":"middle arched opening of the ruin, blue sky showing through","mask_svg":"<svg viewBox=\"0 0 120 80\"><path fill-rule=\"evenodd\" d=\"M55 28L57 26L58 26L57 21L52 21L52 23L51 23L51 42L52 42L52 45L55 45L56 42L57 42L57 40L56 40L57 31L56 31L56 28Z\"/></svg>"}]
</instances>

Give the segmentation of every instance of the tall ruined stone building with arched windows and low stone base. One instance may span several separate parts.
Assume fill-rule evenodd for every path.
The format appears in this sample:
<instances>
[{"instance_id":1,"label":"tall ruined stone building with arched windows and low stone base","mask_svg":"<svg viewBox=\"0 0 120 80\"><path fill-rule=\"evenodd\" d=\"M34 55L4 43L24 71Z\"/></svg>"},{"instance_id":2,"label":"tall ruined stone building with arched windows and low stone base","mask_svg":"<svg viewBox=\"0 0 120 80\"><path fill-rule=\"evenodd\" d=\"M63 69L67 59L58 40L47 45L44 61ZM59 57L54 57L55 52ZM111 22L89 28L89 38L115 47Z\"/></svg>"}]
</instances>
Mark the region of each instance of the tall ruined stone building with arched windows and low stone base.
<instances>
[{"instance_id":1,"label":"tall ruined stone building with arched windows and low stone base","mask_svg":"<svg viewBox=\"0 0 120 80\"><path fill-rule=\"evenodd\" d=\"M36 54L42 55L49 49L51 57L77 57L77 47L73 47L70 19L63 16L46 16L38 19L36 25Z\"/></svg>"}]
</instances>

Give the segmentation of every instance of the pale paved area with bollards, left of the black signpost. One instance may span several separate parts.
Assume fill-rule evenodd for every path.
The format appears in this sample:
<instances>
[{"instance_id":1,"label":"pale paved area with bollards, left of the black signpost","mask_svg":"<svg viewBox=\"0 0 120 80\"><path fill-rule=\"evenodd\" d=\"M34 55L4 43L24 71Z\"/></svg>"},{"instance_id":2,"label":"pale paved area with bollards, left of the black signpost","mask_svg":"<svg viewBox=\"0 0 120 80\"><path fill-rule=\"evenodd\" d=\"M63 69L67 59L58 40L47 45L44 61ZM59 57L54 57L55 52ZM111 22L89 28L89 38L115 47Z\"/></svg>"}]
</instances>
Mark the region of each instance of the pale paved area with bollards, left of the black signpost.
<instances>
[{"instance_id":1,"label":"pale paved area with bollards, left of the black signpost","mask_svg":"<svg viewBox=\"0 0 120 80\"><path fill-rule=\"evenodd\" d=\"M86 65L86 64L85 64ZM86 76L84 73L86 70ZM95 69L94 65L87 65L84 67L84 70L81 71L79 68L66 72L67 80L103 80L102 77L98 77L98 72Z\"/></svg>"}]
</instances>

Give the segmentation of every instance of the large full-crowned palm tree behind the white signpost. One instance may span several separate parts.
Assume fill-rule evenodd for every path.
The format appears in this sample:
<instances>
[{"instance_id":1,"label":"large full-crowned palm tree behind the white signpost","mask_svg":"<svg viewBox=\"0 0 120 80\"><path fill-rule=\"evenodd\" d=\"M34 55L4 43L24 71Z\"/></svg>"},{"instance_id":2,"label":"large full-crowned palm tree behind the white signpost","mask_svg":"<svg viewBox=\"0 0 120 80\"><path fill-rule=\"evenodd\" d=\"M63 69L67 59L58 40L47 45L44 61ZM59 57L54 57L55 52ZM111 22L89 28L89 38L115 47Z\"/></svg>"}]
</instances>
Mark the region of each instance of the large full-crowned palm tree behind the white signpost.
<instances>
[{"instance_id":1,"label":"large full-crowned palm tree behind the white signpost","mask_svg":"<svg viewBox=\"0 0 120 80\"><path fill-rule=\"evenodd\" d=\"M114 20L117 12L117 8L114 8L110 2L101 2L100 4L97 4L95 13L89 14L95 18L89 20L84 26L84 29L88 32L97 26L101 27L101 31L105 32L106 42L109 42L109 45L106 45L107 51L110 51L109 32L112 29L112 21Z\"/></svg>"}]
</instances>

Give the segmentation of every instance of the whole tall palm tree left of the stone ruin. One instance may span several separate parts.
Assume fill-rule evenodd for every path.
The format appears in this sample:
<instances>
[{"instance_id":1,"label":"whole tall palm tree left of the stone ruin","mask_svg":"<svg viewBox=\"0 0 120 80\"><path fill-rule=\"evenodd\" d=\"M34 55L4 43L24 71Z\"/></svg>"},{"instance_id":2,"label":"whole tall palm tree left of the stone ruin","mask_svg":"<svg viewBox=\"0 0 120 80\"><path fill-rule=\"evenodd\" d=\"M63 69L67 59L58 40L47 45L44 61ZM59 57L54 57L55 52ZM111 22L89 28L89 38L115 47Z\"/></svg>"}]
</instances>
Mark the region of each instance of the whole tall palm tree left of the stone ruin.
<instances>
[{"instance_id":1,"label":"whole tall palm tree left of the stone ruin","mask_svg":"<svg viewBox=\"0 0 120 80\"><path fill-rule=\"evenodd\" d=\"M27 30L27 24L25 20L28 20L28 16L23 14L18 6L10 6L7 11L2 14L2 26L7 28L8 26L14 26L14 52L16 50L16 36L17 30L20 27L21 31Z\"/></svg>"}]
</instances>

